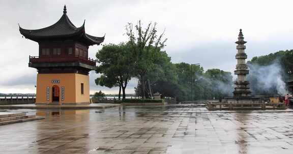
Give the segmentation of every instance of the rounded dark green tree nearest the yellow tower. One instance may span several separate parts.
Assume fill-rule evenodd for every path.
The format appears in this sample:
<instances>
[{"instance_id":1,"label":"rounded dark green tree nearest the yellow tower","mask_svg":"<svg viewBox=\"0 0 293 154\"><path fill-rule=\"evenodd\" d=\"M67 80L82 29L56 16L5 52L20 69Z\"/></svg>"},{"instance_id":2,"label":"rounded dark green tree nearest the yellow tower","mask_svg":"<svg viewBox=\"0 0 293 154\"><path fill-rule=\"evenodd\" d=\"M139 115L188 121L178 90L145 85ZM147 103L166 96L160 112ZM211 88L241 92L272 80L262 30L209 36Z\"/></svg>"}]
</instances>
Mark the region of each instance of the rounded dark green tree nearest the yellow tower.
<instances>
[{"instance_id":1,"label":"rounded dark green tree nearest the yellow tower","mask_svg":"<svg viewBox=\"0 0 293 154\"><path fill-rule=\"evenodd\" d=\"M100 63L96 72L101 73L100 78L96 79L96 84L108 88L120 87L125 99L125 89L131 79L134 64L129 46L124 43L104 45L96 57Z\"/></svg>"}]
</instances>

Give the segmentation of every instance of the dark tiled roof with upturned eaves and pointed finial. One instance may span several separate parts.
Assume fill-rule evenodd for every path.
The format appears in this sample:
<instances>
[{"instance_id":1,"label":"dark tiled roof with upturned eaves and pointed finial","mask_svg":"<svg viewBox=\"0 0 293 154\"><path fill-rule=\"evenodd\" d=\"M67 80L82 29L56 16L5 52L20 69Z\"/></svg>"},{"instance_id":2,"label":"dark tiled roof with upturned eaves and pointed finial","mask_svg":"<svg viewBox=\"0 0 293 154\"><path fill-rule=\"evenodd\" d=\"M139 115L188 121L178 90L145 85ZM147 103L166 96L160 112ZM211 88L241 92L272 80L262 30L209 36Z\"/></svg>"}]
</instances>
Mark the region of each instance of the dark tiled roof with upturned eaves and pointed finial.
<instances>
[{"instance_id":1,"label":"dark tiled roof with upturned eaves and pointed finial","mask_svg":"<svg viewBox=\"0 0 293 154\"><path fill-rule=\"evenodd\" d=\"M62 17L53 25L41 29L23 29L19 26L20 33L30 40L39 42L47 38L66 38L71 36L80 37L87 45L99 45L104 41L103 37L96 37L85 33L84 23L80 27L75 27L67 16L66 6Z\"/></svg>"}]
</instances>

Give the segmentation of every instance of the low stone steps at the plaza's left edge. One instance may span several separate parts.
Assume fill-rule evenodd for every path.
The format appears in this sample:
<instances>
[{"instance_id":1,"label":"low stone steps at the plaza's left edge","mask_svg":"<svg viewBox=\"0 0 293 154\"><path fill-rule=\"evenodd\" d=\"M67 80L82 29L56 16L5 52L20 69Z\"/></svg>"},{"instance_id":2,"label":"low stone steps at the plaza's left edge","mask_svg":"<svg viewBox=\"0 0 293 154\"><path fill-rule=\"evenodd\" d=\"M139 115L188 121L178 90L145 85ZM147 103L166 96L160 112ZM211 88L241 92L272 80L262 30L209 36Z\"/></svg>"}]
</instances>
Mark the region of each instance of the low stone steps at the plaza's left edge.
<instances>
[{"instance_id":1,"label":"low stone steps at the plaza's left edge","mask_svg":"<svg viewBox=\"0 0 293 154\"><path fill-rule=\"evenodd\" d=\"M13 123L20 123L20 122L27 122L33 120L41 120L44 119L43 117L37 117L36 115L25 115L25 113L4 113L1 112L0 114L0 126L13 124Z\"/></svg>"}]
</instances>

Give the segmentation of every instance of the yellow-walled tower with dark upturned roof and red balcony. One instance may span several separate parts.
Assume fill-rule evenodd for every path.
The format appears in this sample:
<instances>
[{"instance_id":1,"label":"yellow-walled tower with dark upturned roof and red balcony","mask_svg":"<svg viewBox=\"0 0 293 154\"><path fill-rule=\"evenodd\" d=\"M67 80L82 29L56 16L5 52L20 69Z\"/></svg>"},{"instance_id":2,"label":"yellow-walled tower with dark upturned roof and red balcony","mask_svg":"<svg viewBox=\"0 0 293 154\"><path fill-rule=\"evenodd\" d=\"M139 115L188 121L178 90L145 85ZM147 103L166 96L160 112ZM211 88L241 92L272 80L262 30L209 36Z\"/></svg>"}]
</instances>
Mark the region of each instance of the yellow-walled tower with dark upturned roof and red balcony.
<instances>
[{"instance_id":1,"label":"yellow-walled tower with dark upturned roof and red balcony","mask_svg":"<svg viewBox=\"0 0 293 154\"><path fill-rule=\"evenodd\" d=\"M88 58L88 49L100 45L103 37L75 27L64 6L62 17L53 25L20 33L39 44L39 56L30 56L29 67L37 68L37 99L40 104L90 103L89 71L96 61ZM25 80L25 79L24 79Z\"/></svg>"}]
</instances>

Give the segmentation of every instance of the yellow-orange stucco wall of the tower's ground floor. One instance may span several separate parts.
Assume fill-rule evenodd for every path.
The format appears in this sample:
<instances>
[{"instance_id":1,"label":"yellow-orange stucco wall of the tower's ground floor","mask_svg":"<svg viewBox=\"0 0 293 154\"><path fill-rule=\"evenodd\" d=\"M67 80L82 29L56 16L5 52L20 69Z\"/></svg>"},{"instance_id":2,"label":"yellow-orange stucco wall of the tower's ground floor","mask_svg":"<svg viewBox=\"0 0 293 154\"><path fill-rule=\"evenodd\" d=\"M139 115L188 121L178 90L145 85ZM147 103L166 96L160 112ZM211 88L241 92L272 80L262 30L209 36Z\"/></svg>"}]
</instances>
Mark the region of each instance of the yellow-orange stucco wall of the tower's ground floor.
<instances>
[{"instance_id":1,"label":"yellow-orange stucco wall of the tower's ground floor","mask_svg":"<svg viewBox=\"0 0 293 154\"><path fill-rule=\"evenodd\" d=\"M60 83L52 83L58 80ZM84 94L81 95L80 84L84 84ZM48 73L37 76L37 98L36 103L52 102L52 87L60 88L61 103L90 102L89 76L77 73ZM50 87L49 101L47 101L47 87ZM64 100L61 100L61 88L64 87Z\"/></svg>"}]
</instances>

